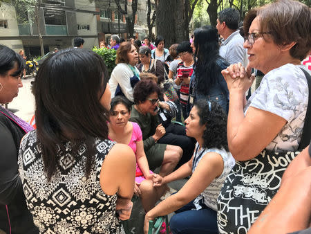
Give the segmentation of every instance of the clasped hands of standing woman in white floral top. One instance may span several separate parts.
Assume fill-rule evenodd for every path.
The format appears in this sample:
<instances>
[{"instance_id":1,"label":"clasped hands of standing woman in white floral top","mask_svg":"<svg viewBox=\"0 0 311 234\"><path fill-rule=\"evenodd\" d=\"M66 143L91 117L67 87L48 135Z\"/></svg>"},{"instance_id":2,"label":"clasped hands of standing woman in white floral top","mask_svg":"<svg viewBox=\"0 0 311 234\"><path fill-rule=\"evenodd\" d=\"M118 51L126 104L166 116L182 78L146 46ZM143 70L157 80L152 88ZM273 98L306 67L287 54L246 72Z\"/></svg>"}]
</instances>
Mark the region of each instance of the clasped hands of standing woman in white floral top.
<instances>
[{"instance_id":1,"label":"clasped hands of standing woman in white floral top","mask_svg":"<svg viewBox=\"0 0 311 234\"><path fill-rule=\"evenodd\" d=\"M227 69L221 71L227 82L229 92L233 89L238 89L245 93L252 86L255 79L255 75L251 71L249 66L245 69L240 62L232 64Z\"/></svg>"}]
</instances>

